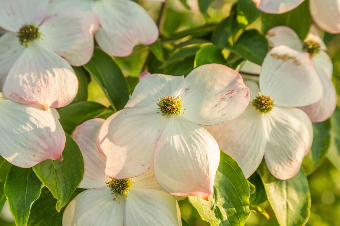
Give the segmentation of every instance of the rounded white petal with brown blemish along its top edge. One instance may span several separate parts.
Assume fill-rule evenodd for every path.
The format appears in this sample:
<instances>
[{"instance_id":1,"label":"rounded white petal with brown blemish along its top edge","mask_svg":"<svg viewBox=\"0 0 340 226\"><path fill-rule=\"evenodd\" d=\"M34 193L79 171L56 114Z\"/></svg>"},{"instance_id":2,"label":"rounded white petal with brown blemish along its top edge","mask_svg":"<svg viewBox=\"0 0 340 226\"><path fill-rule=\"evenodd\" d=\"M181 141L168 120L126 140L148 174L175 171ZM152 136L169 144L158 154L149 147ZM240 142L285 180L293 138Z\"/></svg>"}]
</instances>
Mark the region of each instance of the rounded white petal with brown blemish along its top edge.
<instances>
[{"instance_id":1,"label":"rounded white petal with brown blemish along its top edge","mask_svg":"<svg viewBox=\"0 0 340 226\"><path fill-rule=\"evenodd\" d=\"M321 99L323 86L308 53L287 46L272 48L262 64L259 78L262 94L276 106L301 107Z\"/></svg>"}]
</instances>

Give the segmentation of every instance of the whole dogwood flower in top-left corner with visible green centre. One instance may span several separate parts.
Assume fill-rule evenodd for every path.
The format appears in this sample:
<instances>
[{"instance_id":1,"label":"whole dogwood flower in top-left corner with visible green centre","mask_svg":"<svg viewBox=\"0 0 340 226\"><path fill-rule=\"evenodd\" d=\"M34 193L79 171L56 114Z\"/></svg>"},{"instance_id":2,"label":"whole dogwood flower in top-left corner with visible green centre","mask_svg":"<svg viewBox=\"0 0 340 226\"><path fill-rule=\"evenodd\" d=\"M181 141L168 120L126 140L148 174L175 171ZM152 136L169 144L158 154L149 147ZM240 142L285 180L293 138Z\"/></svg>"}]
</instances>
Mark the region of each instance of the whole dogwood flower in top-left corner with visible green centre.
<instances>
[{"instance_id":1,"label":"whole dogwood flower in top-left corner with visible green centre","mask_svg":"<svg viewBox=\"0 0 340 226\"><path fill-rule=\"evenodd\" d=\"M45 18L48 0L4 0L0 26L0 80L3 94L45 109L70 103L78 91L71 65L87 63L99 27L93 12L58 13ZM45 19L44 19L45 18Z\"/></svg>"}]
</instances>

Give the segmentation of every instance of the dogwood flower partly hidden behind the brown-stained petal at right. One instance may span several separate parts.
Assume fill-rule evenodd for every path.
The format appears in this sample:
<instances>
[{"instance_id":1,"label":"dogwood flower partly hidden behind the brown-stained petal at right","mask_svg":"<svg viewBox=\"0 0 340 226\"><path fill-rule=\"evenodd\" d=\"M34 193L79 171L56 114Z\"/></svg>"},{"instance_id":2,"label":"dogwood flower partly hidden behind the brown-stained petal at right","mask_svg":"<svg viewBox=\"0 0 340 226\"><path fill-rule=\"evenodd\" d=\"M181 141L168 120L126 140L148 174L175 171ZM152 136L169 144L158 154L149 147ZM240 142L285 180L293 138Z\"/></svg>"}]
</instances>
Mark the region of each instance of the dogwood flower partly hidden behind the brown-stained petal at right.
<instances>
[{"instance_id":1,"label":"dogwood flower partly hidden behind the brown-stained petal at right","mask_svg":"<svg viewBox=\"0 0 340 226\"><path fill-rule=\"evenodd\" d=\"M310 32L304 42L300 41L299 36L293 29L286 26L277 26L270 29L266 37L270 47L286 45L297 51L307 52L313 60L313 65L317 71L323 85L322 98L309 106L301 107L312 122L323 122L327 120L337 105L337 95L332 82L333 64L330 57L326 54L326 45L319 36L315 26L311 26Z\"/></svg>"}]
</instances>

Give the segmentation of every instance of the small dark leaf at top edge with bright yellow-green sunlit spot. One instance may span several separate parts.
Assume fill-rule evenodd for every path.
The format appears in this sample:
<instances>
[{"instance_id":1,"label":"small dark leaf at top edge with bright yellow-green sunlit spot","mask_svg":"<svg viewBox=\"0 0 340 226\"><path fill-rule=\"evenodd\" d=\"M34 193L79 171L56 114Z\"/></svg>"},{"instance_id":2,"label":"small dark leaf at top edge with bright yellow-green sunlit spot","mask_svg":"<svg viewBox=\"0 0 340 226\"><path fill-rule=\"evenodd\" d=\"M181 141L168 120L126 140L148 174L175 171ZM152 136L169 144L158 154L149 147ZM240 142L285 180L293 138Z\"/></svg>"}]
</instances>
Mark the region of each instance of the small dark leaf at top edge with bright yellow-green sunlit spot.
<instances>
[{"instance_id":1,"label":"small dark leaf at top edge with bright yellow-green sunlit spot","mask_svg":"<svg viewBox=\"0 0 340 226\"><path fill-rule=\"evenodd\" d=\"M261 11L257 9L252 0L238 0L236 9L237 22L242 25L243 29L261 15Z\"/></svg>"}]
</instances>

